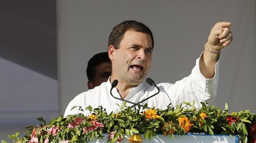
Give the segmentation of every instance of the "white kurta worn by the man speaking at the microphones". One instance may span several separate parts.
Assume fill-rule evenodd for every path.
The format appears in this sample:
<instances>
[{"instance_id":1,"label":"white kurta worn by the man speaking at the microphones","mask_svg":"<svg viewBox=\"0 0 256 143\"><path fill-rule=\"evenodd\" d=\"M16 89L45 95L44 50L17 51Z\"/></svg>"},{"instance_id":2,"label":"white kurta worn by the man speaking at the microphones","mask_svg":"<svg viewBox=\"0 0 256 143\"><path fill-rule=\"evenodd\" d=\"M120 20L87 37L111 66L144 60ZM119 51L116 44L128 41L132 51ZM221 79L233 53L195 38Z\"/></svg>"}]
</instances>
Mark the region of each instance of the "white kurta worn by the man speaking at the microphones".
<instances>
[{"instance_id":1,"label":"white kurta worn by the man speaking at the microphones","mask_svg":"<svg viewBox=\"0 0 256 143\"><path fill-rule=\"evenodd\" d=\"M215 65L215 76L211 79L207 79L200 72L199 59L200 58L196 60L196 65L193 67L189 76L175 82L175 84L157 84L160 88L160 93L147 101L144 101L141 105L148 103L148 107L166 109L167 105L170 103L172 106L175 106L179 105L183 101L189 101L192 103L193 100L195 100L195 107L199 107L200 102L202 101L211 103L217 92L219 61ZM82 109L85 109L85 107L89 105L93 108L102 105L102 107L106 108L108 113L118 110L119 107L117 104L121 105L123 101L113 98L110 94L110 90L111 82L109 78L107 82L103 82L100 86L77 95L68 104L64 116L82 113L78 108L70 110L74 106L81 106ZM125 100L137 103L147 97L150 97L156 92L156 87L150 86L146 82L142 82L137 87L130 89ZM120 98L116 88L113 88L112 94L115 97ZM133 104L127 103L127 105L132 106ZM83 114L89 115L89 111L85 110Z\"/></svg>"}]
</instances>

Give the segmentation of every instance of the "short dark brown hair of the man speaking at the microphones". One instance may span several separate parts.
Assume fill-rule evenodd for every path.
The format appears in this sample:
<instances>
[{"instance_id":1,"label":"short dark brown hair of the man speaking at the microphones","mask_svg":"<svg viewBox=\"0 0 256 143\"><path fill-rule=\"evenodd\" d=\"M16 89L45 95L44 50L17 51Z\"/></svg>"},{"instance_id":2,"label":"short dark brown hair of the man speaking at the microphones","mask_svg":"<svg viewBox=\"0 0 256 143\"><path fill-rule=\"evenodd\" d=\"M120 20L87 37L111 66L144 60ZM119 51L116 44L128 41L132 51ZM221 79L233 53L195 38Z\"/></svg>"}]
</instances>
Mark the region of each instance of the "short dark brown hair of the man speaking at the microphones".
<instances>
[{"instance_id":1,"label":"short dark brown hair of the man speaking at the microphones","mask_svg":"<svg viewBox=\"0 0 256 143\"><path fill-rule=\"evenodd\" d=\"M134 20L124 21L113 28L111 34L108 37L108 47L113 45L115 49L118 49L121 40L124 38L124 33L129 30L150 34L152 40L152 48L154 48L154 38L149 27L141 22Z\"/></svg>"}]
</instances>

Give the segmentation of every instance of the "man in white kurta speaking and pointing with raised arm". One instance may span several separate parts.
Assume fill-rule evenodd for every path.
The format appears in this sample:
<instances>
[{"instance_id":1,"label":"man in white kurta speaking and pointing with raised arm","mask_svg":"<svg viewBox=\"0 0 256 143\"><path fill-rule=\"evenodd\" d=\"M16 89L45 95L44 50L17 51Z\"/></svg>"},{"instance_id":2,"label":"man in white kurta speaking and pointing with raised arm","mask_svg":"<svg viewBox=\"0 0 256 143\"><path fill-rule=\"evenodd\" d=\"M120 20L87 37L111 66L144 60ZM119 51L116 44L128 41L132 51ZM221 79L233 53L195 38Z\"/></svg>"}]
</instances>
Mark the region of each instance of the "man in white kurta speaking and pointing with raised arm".
<instances>
[{"instance_id":1,"label":"man in white kurta speaking and pointing with raised arm","mask_svg":"<svg viewBox=\"0 0 256 143\"><path fill-rule=\"evenodd\" d=\"M120 23L113 28L108 38L111 77L100 86L77 95L70 101L64 116L81 113L78 108L71 110L74 106L85 109L89 105L93 108L102 105L110 113L118 109L117 104L121 105L124 100L128 101L128 106L148 103L148 107L159 109L166 109L169 104L175 106L183 101L195 100L195 107L199 107L202 101L211 103L216 96L220 50L232 42L230 25L229 22L216 23L191 74L175 84L157 84L160 90L158 93L158 88L144 81L155 50L151 30L137 21ZM156 93L158 94L152 97ZM85 110L83 114L88 115L89 111Z\"/></svg>"}]
</instances>

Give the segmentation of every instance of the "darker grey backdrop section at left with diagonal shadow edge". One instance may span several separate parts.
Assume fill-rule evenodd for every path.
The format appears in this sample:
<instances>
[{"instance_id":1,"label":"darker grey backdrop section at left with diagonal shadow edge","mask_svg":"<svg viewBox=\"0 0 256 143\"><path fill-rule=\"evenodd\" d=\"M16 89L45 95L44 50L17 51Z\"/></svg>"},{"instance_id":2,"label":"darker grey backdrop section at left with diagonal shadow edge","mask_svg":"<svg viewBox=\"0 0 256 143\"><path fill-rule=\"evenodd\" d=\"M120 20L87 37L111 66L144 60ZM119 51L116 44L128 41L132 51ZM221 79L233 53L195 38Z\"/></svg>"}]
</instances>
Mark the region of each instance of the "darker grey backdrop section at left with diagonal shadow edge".
<instances>
[{"instance_id":1,"label":"darker grey backdrop section at left with diagonal shadow edge","mask_svg":"<svg viewBox=\"0 0 256 143\"><path fill-rule=\"evenodd\" d=\"M56 2L0 2L0 141L59 116Z\"/></svg>"}]
</instances>

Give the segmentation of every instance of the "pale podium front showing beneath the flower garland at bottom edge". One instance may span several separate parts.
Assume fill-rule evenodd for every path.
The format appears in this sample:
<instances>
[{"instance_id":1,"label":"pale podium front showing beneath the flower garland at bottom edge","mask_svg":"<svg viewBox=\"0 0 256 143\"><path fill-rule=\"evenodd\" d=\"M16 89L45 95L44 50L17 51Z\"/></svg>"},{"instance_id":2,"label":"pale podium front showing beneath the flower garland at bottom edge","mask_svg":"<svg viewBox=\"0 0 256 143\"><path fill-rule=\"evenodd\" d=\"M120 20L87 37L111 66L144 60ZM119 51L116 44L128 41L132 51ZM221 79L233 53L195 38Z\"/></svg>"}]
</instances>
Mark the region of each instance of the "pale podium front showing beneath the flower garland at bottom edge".
<instances>
[{"instance_id":1,"label":"pale podium front showing beneath the flower garland at bottom edge","mask_svg":"<svg viewBox=\"0 0 256 143\"><path fill-rule=\"evenodd\" d=\"M89 143L106 143L109 134L104 133L103 135L103 140L93 139ZM143 139L142 143L239 143L237 135L233 137L230 137L230 135L174 135L174 139L172 139L171 136L157 134L149 141L149 139L144 139L143 134L141 134L141 138ZM131 142L129 137L125 135L124 140L119 143Z\"/></svg>"}]
</instances>

